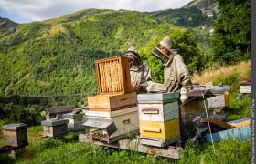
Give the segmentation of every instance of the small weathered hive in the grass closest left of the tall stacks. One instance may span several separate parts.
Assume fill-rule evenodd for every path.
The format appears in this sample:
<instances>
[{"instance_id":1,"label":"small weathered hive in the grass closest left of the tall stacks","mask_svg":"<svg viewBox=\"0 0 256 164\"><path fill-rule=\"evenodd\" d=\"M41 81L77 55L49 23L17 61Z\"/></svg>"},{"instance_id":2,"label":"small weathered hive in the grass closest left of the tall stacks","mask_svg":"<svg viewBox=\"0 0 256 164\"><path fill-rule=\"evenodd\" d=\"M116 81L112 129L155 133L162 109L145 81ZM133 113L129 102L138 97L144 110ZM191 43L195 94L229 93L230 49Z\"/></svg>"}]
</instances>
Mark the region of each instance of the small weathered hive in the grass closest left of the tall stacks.
<instances>
[{"instance_id":1,"label":"small weathered hive in the grass closest left of the tall stacks","mask_svg":"<svg viewBox=\"0 0 256 164\"><path fill-rule=\"evenodd\" d=\"M78 114L74 114L73 112L66 113L66 114L63 114L63 118L66 118L69 120L68 131L80 131L84 129L84 126L82 125L85 121L84 113L78 113Z\"/></svg>"}]
</instances>

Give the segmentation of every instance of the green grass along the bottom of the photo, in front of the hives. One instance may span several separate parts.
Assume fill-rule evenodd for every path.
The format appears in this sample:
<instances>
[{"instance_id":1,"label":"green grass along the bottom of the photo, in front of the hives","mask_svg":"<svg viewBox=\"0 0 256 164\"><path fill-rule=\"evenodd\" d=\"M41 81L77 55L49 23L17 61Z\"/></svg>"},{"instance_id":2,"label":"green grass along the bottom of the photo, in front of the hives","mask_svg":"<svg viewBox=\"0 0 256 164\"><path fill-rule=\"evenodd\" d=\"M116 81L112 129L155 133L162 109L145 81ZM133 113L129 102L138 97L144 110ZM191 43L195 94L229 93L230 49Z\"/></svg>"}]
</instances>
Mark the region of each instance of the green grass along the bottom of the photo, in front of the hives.
<instances>
[{"instance_id":1,"label":"green grass along the bottom of the photo, in front of the hives","mask_svg":"<svg viewBox=\"0 0 256 164\"><path fill-rule=\"evenodd\" d=\"M216 153L209 143L197 148L187 143L182 159L155 158L128 150L108 149L78 142L78 134L64 138L40 138L41 126L29 127L29 145L16 160L0 156L0 163L250 163L251 140L223 140L215 144ZM238 149L239 148L239 149Z\"/></svg>"}]
</instances>

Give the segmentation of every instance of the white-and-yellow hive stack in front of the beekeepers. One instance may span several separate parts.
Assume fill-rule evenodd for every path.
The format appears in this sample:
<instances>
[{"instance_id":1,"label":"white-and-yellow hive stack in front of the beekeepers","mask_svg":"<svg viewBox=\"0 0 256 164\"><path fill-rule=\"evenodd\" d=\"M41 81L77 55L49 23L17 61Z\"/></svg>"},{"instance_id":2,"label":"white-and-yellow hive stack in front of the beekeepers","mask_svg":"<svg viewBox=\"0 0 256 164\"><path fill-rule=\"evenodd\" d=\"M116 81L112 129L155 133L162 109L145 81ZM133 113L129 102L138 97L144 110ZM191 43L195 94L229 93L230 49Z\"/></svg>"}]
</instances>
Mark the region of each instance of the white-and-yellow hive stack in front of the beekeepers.
<instances>
[{"instance_id":1,"label":"white-and-yellow hive stack in front of the beekeepers","mask_svg":"<svg viewBox=\"0 0 256 164\"><path fill-rule=\"evenodd\" d=\"M165 147L180 138L179 93L140 94L141 143Z\"/></svg>"}]
</instances>

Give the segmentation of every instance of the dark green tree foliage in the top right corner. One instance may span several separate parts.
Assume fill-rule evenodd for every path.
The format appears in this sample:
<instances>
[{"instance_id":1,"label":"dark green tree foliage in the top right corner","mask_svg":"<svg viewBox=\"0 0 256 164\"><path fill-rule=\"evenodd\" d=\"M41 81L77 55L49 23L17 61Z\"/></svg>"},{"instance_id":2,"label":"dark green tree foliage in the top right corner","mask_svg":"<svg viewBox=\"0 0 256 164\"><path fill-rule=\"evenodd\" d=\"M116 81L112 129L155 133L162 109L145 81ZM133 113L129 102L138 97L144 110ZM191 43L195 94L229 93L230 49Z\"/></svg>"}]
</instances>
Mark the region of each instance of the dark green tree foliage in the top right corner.
<instances>
[{"instance_id":1,"label":"dark green tree foliage in the top right corner","mask_svg":"<svg viewBox=\"0 0 256 164\"><path fill-rule=\"evenodd\" d=\"M232 63L251 57L250 0L217 0L219 18L213 25L215 61Z\"/></svg>"}]
</instances>

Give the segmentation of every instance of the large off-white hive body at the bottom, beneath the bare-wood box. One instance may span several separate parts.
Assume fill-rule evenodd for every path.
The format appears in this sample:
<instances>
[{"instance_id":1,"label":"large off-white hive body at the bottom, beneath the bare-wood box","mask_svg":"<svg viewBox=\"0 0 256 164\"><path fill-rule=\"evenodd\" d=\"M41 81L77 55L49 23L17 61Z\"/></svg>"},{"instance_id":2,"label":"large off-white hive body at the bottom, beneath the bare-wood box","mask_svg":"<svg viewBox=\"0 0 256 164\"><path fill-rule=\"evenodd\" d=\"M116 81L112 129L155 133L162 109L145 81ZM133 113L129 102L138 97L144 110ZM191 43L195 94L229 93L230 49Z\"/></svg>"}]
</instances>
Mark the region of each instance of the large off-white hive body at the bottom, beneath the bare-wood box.
<instances>
[{"instance_id":1,"label":"large off-white hive body at the bottom, beneath the bare-wood box","mask_svg":"<svg viewBox=\"0 0 256 164\"><path fill-rule=\"evenodd\" d=\"M85 114L87 121L90 121L91 123L88 124L86 121L84 125L87 126L86 128L88 133L91 134L93 131L99 131L99 129L104 132L106 131L104 128L108 128L108 126L112 127L113 123L114 127L116 128L115 131L112 131L112 133L109 133L108 135L102 135L101 140L110 142L113 141L112 138L126 138L129 136L129 134L138 132L139 130L137 107L123 108L111 112L86 110ZM103 125L105 125L105 127L102 127Z\"/></svg>"}]
</instances>

